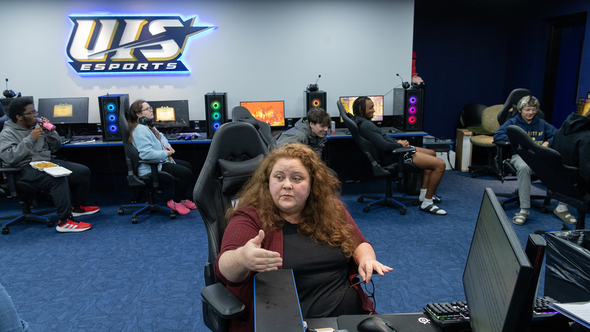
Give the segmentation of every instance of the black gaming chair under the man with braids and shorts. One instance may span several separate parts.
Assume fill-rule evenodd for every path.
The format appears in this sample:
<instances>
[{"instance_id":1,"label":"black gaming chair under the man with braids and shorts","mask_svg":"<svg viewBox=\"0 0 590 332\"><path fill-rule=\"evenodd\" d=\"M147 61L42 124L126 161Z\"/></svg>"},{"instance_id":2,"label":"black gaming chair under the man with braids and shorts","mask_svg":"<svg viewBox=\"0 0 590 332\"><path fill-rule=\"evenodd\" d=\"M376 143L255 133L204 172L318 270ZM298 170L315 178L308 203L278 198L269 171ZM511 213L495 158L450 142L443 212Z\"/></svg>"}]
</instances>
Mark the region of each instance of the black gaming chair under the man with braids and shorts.
<instances>
[{"instance_id":1,"label":"black gaming chair under the man with braids and shorts","mask_svg":"<svg viewBox=\"0 0 590 332\"><path fill-rule=\"evenodd\" d=\"M407 172L419 172L418 168L410 163L404 161L404 155L406 152L416 151L415 148L398 148L393 151L395 155L398 157L398 162L392 165L382 166L379 164L379 149L376 147L375 144L372 144L368 139L360 136L359 128L356 123L353 121L353 116L349 115L346 112L342 102L340 100L336 101L336 105L338 106L338 110L340 111L340 116L346 125L346 128L350 131L352 138L355 140L356 145L359 146L365 157L371 162L371 169L373 171L373 177L385 180L386 187L385 187L385 197L374 197L374 196L366 196L364 194L360 195L358 198L359 203L363 203L365 198L369 198L372 201L371 203L366 204L363 208L363 212L369 212L372 206L375 205L388 205L394 206L399 209L399 214L402 216L406 213L406 206L399 201L412 201L412 204L418 202L417 198L409 198L409 197L392 197L392 189L391 183L401 181L404 178L405 173Z\"/></svg>"}]
</instances>

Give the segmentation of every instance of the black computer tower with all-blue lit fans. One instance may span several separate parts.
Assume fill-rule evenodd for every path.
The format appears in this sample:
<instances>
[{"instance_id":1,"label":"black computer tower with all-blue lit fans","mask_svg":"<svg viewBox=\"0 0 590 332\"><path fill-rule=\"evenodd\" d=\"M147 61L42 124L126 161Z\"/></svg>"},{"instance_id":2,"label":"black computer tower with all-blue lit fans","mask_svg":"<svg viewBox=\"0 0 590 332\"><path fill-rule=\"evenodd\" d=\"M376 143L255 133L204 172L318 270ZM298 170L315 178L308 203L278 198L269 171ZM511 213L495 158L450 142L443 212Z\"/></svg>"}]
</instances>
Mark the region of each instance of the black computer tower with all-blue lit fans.
<instances>
[{"instance_id":1,"label":"black computer tower with all-blue lit fans","mask_svg":"<svg viewBox=\"0 0 590 332\"><path fill-rule=\"evenodd\" d=\"M122 107L129 109L129 95L99 96L103 141L122 140L121 132L119 131L119 112Z\"/></svg>"}]
</instances>

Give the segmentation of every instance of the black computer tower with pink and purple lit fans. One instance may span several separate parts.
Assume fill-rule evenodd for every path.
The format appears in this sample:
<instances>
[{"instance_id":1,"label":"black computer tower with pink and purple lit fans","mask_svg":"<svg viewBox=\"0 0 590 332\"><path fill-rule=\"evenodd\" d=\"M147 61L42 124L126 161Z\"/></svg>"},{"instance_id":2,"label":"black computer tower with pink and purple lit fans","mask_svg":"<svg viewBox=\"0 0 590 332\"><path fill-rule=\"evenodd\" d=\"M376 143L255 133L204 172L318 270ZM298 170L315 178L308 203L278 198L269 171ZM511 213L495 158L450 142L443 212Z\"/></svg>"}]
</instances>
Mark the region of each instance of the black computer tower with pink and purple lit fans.
<instances>
[{"instance_id":1,"label":"black computer tower with pink and purple lit fans","mask_svg":"<svg viewBox=\"0 0 590 332\"><path fill-rule=\"evenodd\" d=\"M424 130L424 89L394 89L394 127Z\"/></svg>"}]
</instances>

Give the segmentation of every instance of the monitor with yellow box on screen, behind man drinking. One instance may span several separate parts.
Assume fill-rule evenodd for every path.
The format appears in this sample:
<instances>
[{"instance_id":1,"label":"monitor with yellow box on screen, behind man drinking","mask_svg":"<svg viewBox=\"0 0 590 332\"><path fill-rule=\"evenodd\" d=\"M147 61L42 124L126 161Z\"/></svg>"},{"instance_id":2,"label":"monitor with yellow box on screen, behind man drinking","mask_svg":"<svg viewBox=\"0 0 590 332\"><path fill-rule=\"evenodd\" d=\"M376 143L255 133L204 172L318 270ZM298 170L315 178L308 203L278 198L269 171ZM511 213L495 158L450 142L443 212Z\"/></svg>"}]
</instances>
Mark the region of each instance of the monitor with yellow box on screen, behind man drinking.
<instances>
[{"instance_id":1,"label":"monitor with yellow box on screen, behind man drinking","mask_svg":"<svg viewBox=\"0 0 590 332\"><path fill-rule=\"evenodd\" d=\"M37 112L54 125L88 123L88 97L40 98Z\"/></svg>"}]
</instances>

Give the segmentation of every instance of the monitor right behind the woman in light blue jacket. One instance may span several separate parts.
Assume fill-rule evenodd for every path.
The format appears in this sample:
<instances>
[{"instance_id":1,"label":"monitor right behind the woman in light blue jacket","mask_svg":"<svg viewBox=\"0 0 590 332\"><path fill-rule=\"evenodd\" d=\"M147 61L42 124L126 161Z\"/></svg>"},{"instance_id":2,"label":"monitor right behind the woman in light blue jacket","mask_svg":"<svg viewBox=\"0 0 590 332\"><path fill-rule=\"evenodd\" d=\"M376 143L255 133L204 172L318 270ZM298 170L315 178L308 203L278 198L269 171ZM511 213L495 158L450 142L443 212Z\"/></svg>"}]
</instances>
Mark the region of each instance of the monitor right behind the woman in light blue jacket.
<instances>
[{"instance_id":1,"label":"monitor right behind the woman in light blue jacket","mask_svg":"<svg viewBox=\"0 0 590 332\"><path fill-rule=\"evenodd\" d=\"M153 109L156 128L188 128L188 100L159 100L148 102Z\"/></svg>"}]
</instances>

